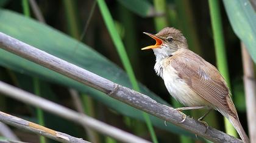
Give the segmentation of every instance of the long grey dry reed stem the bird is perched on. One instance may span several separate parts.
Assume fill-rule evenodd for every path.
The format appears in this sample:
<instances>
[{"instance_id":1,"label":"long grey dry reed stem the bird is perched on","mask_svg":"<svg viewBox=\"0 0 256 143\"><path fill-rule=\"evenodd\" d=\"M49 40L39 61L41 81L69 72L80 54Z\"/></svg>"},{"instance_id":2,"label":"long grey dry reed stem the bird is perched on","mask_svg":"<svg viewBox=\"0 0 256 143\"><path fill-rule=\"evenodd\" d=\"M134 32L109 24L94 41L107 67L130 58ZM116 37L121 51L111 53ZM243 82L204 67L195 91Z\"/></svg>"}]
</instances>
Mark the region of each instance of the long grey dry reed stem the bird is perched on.
<instances>
[{"instance_id":1,"label":"long grey dry reed stem the bird is perched on","mask_svg":"<svg viewBox=\"0 0 256 143\"><path fill-rule=\"evenodd\" d=\"M108 79L95 75L90 71L77 67L74 64L52 56L35 47L32 47L31 45L25 44L24 42L18 41L17 39L7 36L4 33L0 33L0 47L37 64L43 65L44 67L50 68L51 70L57 71L58 73L61 73L62 75L79 81L85 85L96 88L112 98L129 104L151 115L157 116L158 118L163 119L163 121L168 121L179 127L185 128L185 130L191 131L192 133L202 136L210 141L241 142L240 139L236 139L233 136L229 136L226 133L212 127L209 127L207 133L205 133L205 125L191 118L187 118L184 122L182 122L182 124L180 124L179 122L183 119L182 115L179 113L179 111L174 110L174 108L160 104L146 95L115 84Z\"/></svg>"}]
</instances>

